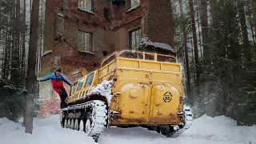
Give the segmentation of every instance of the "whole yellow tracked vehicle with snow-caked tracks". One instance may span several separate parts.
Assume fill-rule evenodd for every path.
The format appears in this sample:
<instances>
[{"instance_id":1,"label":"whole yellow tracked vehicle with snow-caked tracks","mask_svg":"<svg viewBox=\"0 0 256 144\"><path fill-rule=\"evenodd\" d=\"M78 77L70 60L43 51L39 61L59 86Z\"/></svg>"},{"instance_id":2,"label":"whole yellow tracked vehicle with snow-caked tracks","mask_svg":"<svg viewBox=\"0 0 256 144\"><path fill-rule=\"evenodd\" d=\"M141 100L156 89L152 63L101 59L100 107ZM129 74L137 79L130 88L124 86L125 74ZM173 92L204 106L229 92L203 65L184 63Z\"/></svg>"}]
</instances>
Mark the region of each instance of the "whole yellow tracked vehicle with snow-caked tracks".
<instances>
[{"instance_id":1,"label":"whole yellow tracked vehicle with snow-caked tracks","mask_svg":"<svg viewBox=\"0 0 256 144\"><path fill-rule=\"evenodd\" d=\"M182 66L173 56L124 50L111 54L99 70L80 73L61 110L62 127L97 141L110 126L143 126L178 137L192 124Z\"/></svg>"}]
</instances>

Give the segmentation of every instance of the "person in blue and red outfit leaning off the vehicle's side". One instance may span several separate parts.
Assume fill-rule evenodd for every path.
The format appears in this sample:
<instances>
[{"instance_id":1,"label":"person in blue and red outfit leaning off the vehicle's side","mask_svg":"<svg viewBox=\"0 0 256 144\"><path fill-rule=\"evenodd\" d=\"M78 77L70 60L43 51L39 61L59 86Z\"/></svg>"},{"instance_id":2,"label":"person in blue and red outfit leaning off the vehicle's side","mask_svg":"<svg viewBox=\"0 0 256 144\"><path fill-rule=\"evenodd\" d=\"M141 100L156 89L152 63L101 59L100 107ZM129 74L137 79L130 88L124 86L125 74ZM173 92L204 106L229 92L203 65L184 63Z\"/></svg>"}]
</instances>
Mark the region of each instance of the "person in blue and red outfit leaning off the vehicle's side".
<instances>
[{"instance_id":1,"label":"person in blue and red outfit leaning off the vehicle's side","mask_svg":"<svg viewBox=\"0 0 256 144\"><path fill-rule=\"evenodd\" d=\"M71 86L71 83L62 74L62 68L58 68L58 70L56 70L54 73L50 74L49 76L39 79L38 82L44 82L50 79L51 79L51 83L54 91L56 91L59 95L59 98L61 98L61 108L65 108L67 106L65 102L67 94L63 86L63 81L66 82L66 84L68 84L69 86Z\"/></svg>"}]
</instances>

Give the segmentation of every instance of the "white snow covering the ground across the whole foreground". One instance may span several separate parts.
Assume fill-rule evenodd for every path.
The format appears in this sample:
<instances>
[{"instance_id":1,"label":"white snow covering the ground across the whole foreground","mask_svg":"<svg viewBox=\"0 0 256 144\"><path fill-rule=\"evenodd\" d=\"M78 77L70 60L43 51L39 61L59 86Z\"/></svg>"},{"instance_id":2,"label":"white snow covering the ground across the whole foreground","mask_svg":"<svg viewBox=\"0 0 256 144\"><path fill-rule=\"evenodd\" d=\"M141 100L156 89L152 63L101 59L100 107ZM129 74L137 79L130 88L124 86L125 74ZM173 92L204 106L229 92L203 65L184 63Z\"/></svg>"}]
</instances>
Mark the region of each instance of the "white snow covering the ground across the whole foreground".
<instances>
[{"instance_id":1,"label":"white snow covering the ground across the whole foreground","mask_svg":"<svg viewBox=\"0 0 256 144\"><path fill-rule=\"evenodd\" d=\"M84 133L62 129L58 115L46 119L34 118L33 134L25 134L21 123L0 118L1 144L90 144L94 140ZM111 127L100 136L101 144L255 144L256 126L236 126L224 116L195 119L193 126L179 138L166 138L145 128Z\"/></svg>"}]
</instances>

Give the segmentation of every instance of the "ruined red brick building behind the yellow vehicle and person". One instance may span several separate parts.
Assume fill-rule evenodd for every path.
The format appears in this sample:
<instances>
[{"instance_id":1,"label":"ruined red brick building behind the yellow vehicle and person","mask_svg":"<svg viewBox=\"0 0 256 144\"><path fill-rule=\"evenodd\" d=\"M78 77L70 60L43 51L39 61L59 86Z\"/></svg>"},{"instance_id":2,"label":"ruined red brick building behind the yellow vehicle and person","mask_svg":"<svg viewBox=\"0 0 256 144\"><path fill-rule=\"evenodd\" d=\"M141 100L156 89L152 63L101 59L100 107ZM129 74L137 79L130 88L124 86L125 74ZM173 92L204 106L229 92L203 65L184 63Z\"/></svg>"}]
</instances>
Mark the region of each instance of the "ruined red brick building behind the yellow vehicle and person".
<instances>
[{"instance_id":1,"label":"ruined red brick building behind the yellow vehicle and person","mask_svg":"<svg viewBox=\"0 0 256 144\"><path fill-rule=\"evenodd\" d=\"M70 74L95 70L114 51L135 50L144 35L174 46L170 0L46 0L40 77L61 66L74 82ZM58 110L55 97L50 82L42 82L40 98L51 99L42 105L42 117Z\"/></svg>"}]
</instances>

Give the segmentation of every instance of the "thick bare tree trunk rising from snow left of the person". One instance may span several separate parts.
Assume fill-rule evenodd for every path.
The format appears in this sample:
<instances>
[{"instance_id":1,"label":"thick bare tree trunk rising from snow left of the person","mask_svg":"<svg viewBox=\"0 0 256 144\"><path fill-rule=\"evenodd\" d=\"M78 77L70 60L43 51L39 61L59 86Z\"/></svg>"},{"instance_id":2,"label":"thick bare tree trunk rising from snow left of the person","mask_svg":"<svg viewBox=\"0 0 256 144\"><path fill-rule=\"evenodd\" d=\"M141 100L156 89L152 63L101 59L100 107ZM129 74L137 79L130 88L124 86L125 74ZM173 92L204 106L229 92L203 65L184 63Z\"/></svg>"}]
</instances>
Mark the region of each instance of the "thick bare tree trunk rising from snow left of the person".
<instances>
[{"instance_id":1,"label":"thick bare tree trunk rising from snow left of the person","mask_svg":"<svg viewBox=\"0 0 256 144\"><path fill-rule=\"evenodd\" d=\"M34 113L34 93L36 88L36 55L38 47L38 16L39 16L39 2L34 0L32 6L32 13L30 18L30 44L29 44L29 58L28 70L26 78L26 133L32 134L33 130L33 113Z\"/></svg>"}]
</instances>

